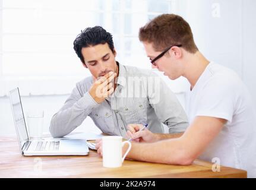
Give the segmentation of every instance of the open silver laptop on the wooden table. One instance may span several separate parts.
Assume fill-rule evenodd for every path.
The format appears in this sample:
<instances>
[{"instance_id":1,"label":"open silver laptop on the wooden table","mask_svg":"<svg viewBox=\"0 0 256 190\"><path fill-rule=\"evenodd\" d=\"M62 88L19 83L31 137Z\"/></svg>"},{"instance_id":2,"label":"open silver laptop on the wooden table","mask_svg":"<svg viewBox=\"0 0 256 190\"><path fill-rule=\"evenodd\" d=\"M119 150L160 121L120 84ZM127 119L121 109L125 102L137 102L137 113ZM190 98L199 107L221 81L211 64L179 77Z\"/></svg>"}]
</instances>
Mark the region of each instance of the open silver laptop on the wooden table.
<instances>
[{"instance_id":1,"label":"open silver laptop on the wooden table","mask_svg":"<svg viewBox=\"0 0 256 190\"><path fill-rule=\"evenodd\" d=\"M24 156L84 156L89 154L86 140L65 138L30 140L18 88L10 91L10 100L21 154Z\"/></svg>"}]
</instances>

